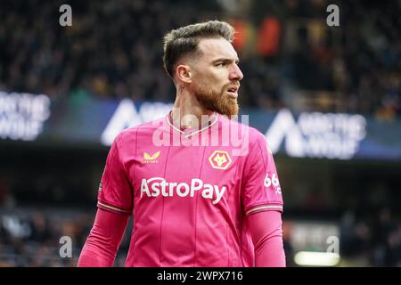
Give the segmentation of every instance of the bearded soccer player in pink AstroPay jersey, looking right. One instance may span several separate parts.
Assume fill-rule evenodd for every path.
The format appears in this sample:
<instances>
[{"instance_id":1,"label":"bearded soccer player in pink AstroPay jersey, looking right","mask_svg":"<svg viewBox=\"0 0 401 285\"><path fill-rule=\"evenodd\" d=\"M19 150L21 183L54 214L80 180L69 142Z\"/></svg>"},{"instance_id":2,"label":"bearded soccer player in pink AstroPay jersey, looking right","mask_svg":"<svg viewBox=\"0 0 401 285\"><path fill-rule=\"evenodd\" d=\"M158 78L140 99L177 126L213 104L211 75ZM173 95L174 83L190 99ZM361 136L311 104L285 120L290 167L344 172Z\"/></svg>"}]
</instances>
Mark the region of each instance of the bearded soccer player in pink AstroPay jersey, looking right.
<instances>
[{"instance_id":1,"label":"bearded soccer player in pink AstroPay jersey, looking right","mask_svg":"<svg viewBox=\"0 0 401 285\"><path fill-rule=\"evenodd\" d=\"M233 34L214 20L164 37L174 108L114 140L78 266L113 265L131 215L126 266L285 266L272 153L232 118L243 77Z\"/></svg>"}]
</instances>

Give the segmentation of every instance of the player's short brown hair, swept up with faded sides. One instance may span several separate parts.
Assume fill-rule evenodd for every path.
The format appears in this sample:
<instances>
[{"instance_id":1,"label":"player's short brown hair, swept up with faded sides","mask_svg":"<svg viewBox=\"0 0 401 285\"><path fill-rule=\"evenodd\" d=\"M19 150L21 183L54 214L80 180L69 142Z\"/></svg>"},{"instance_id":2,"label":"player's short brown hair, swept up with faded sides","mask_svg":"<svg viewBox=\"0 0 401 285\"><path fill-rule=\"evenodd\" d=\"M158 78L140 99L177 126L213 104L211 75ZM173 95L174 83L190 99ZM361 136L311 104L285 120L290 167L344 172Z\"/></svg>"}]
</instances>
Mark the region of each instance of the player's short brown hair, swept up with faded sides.
<instances>
[{"instance_id":1,"label":"player's short brown hair, swept up with faded sides","mask_svg":"<svg viewBox=\"0 0 401 285\"><path fill-rule=\"evenodd\" d=\"M174 77L176 61L187 54L199 53L203 38L223 37L233 42L234 28L225 21L209 20L173 29L163 37L163 64L168 76Z\"/></svg>"}]
</instances>

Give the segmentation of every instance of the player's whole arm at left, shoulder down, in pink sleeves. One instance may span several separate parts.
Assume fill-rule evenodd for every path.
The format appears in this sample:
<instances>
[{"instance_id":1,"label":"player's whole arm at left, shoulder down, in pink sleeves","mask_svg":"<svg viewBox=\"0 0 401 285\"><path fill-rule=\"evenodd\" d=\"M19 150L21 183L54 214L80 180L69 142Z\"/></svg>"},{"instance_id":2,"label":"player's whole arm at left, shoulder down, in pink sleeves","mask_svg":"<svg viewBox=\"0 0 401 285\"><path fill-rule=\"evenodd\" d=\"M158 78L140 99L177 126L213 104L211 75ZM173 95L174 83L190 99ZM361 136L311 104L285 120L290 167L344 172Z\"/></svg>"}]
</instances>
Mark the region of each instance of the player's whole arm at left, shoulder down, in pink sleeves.
<instances>
[{"instance_id":1,"label":"player's whole arm at left, shoulder down, in pink sleeves","mask_svg":"<svg viewBox=\"0 0 401 285\"><path fill-rule=\"evenodd\" d=\"M125 167L122 134L111 145L99 185L97 213L78 266L111 266L127 228L133 193Z\"/></svg>"}]
</instances>

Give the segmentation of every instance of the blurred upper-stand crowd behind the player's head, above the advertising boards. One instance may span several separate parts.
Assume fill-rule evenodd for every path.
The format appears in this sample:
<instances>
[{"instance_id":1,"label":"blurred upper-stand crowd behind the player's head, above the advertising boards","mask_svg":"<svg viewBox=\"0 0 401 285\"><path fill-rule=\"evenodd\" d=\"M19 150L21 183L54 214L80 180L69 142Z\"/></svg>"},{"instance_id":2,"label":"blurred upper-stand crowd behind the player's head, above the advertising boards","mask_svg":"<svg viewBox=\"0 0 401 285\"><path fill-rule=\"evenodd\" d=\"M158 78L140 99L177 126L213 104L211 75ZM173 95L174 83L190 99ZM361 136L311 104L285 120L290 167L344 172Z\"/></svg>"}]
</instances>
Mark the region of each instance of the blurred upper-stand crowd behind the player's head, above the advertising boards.
<instances>
[{"instance_id":1,"label":"blurred upper-stand crowd behind the player's head, above the advertising boards","mask_svg":"<svg viewBox=\"0 0 401 285\"><path fill-rule=\"evenodd\" d=\"M241 106L397 118L400 2L337 2L340 27L325 24L333 3L324 0L69 1L72 26L61 27L61 0L2 1L0 89L79 101L172 101L162 36L184 24L222 19L240 31ZM317 92L307 106L297 106L302 91Z\"/></svg>"}]
</instances>

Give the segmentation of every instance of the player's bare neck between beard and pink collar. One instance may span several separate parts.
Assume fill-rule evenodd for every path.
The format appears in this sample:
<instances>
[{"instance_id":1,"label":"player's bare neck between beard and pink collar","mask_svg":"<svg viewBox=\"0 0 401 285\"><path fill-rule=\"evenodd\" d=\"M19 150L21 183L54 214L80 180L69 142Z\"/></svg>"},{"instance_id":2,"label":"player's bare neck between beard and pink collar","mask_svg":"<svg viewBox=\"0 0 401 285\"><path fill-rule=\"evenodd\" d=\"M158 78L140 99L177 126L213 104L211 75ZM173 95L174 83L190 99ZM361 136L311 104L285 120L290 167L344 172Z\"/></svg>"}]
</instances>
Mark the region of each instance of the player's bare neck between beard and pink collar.
<instances>
[{"instance_id":1,"label":"player's bare neck between beard and pink collar","mask_svg":"<svg viewBox=\"0 0 401 285\"><path fill-rule=\"evenodd\" d=\"M213 111L204 110L193 94L188 93L186 89L179 90L178 88L176 102L171 111L171 120L174 126L180 129L201 129L214 118L213 113ZM208 116L208 119L205 121L202 115Z\"/></svg>"}]
</instances>

